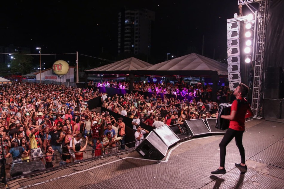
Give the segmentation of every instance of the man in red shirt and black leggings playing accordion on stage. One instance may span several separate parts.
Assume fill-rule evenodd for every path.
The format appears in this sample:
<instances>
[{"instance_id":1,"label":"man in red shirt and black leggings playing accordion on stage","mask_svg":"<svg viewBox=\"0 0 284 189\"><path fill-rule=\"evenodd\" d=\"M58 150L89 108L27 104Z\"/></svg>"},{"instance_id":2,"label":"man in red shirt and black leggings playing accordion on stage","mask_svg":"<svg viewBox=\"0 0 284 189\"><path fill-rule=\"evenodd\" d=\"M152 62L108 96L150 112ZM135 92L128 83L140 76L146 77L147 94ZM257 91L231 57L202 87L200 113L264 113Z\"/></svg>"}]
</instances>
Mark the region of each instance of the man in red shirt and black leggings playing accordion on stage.
<instances>
[{"instance_id":1,"label":"man in red shirt and black leggings playing accordion on stage","mask_svg":"<svg viewBox=\"0 0 284 189\"><path fill-rule=\"evenodd\" d=\"M244 98L248 94L248 86L240 83L239 86L234 91L234 96L236 100L233 101L231 106L230 115L221 115L220 118L230 120L229 128L227 129L222 141L219 144L220 147L220 167L212 171L212 174L225 174L225 156L226 156L226 146L231 142L233 138L236 140L236 145L239 148L241 163L235 163L237 168L240 168L242 172L247 171L247 166L245 165L245 148L242 145L242 135L245 132L245 118L249 118L254 115L248 101ZM216 118L218 118L218 113L216 113Z\"/></svg>"}]
</instances>

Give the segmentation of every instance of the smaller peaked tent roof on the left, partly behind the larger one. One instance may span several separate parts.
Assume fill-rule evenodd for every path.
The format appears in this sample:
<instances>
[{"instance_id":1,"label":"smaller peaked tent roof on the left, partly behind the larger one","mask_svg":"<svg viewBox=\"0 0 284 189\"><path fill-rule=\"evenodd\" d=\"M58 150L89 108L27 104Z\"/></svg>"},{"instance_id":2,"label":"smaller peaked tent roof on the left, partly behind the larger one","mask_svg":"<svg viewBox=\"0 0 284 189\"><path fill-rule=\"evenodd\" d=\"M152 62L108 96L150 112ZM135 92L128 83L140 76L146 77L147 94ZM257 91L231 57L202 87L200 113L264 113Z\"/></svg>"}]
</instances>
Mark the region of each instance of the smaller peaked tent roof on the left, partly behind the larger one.
<instances>
[{"instance_id":1,"label":"smaller peaked tent roof on the left, partly behind the larger one","mask_svg":"<svg viewBox=\"0 0 284 189\"><path fill-rule=\"evenodd\" d=\"M87 73L127 73L129 74L131 70L140 70L144 67L149 67L152 64L144 62L142 60L136 59L134 57L120 60L112 64L97 67L91 70L85 70Z\"/></svg>"}]
</instances>

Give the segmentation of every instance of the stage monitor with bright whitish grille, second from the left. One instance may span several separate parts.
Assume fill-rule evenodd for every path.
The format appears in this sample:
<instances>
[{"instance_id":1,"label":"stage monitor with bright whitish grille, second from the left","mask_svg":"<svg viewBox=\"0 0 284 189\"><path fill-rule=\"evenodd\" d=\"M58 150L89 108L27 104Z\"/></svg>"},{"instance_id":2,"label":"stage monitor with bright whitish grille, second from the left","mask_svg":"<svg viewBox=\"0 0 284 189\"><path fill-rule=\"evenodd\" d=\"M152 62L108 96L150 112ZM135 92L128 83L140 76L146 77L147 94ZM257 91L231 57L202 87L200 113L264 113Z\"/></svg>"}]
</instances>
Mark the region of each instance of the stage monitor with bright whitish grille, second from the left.
<instances>
[{"instance_id":1,"label":"stage monitor with bright whitish grille, second from the left","mask_svg":"<svg viewBox=\"0 0 284 189\"><path fill-rule=\"evenodd\" d=\"M179 141L178 136L170 129L168 125L158 127L153 130L153 132L160 137L168 147L176 144Z\"/></svg>"}]
</instances>

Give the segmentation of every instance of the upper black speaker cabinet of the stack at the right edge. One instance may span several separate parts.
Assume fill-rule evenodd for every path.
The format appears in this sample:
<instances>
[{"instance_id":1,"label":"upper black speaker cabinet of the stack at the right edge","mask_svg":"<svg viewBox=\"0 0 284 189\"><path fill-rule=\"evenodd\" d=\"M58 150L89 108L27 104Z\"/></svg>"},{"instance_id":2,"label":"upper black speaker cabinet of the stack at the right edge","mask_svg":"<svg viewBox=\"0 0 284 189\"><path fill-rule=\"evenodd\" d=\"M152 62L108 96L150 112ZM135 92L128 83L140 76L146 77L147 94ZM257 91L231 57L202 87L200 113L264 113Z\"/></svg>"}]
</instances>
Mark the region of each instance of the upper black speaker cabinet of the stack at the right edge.
<instances>
[{"instance_id":1,"label":"upper black speaker cabinet of the stack at the right edge","mask_svg":"<svg viewBox=\"0 0 284 189\"><path fill-rule=\"evenodd\" d=\"M282 67L267 67L265 69L264 97L271 99L283 98Z\"/></svg>"}]
</instances>

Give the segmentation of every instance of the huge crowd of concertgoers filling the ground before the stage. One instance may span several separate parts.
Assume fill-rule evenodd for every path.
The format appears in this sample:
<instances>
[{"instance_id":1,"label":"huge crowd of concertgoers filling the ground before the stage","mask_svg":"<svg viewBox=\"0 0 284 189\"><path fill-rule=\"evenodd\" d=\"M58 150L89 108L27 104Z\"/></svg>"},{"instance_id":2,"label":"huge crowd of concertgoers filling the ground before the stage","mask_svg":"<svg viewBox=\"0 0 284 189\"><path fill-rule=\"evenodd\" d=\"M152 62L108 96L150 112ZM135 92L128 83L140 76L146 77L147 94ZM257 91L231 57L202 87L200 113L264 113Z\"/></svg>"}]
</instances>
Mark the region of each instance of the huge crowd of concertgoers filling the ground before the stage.
<instances>
[{"instance_id":1,"label":"huge crowd of concertgoers filling the ground before the stage","mask_svg":"<svg viewBox=\"0 0 284 189\"><path fill-rule=\"evenodd\" d=\"M127 82L102 82L104 87L129 88ZM91 86L98 86L100 84ZM164 86L164 87L163 87ZM214 117L218 103L210 100L210 86L195 87L181 84L134 84L135 90L153 92L144 96L138 92L124 96L108 96L99 90L65 87L64 85L19 83L0 86L0 159L12 155L13 163L41 160L46 168L53 167L54 150L60 154L60 165L83 159L87 142L93 146L92 156L125 149L124 116L133 119L135 139L143 139L149 131L140 123L152 127L182 124L184 120ZM182 89L180 91L180 89ZM164 91L164 92L161 92ZM180 95L193 95L179 100L168 99L164 94L180 91ZM185 92L186 93L185 93ZM187 91L189 93L187 93ZM201 91L201 92L200 92ZM204 93L207 91L207 93ZM164 94L163 94L164 93ZM209 95L208 95L209 94ZM163 95L163 99L161 98ZM102 107L109 111L95 112L88 108L88 100L100 97ZM114 119L111 113L121 114ZM141 133L142 136L141 136ZM137 136L137 137L136 137ZM139 136L139 137L138 137ZM82 138L86 139L81 145ZM117 147L119 144L120 147ZM102 150L104 149L104 150ZM44 158L43 158L44 157ZM3 176L1 166L1 176Z\"/></svg>"}]
</instances>

